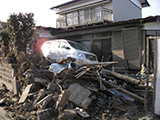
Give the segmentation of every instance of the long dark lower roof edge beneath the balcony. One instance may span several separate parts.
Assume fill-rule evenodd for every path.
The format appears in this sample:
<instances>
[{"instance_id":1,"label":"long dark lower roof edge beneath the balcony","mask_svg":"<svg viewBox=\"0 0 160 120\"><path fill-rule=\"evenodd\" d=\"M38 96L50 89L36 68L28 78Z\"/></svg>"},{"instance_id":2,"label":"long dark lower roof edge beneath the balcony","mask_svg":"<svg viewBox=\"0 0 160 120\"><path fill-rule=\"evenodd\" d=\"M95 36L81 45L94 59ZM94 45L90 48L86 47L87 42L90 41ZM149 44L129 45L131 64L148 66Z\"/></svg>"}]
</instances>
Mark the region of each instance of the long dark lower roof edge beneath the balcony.
<instances>
[{"instance_id":1,"label":"long dark lower roof edge beneath the balcony","mask_svg":"<svg viewBox=\"0 0 160 120\"><path fill-rule=\"evenodd\" d=\"M93 23L88 25L81 25L81 26L74 26L70 28L65 28L57 31L56 33L63 33L69 31L78 31L78 30L86 30L86 29L94 29L94 28L102 28L102 27L114 27L120 25L130 25L130 24L143 24L147 22L156 22L160 21L160 16L149 16L146 18L138 18L138 19L131 19L127 21L117 21L117 22L101 22L101 23ZM55 34L55 33L52 33Z\"/></svg>"}]
</instances>

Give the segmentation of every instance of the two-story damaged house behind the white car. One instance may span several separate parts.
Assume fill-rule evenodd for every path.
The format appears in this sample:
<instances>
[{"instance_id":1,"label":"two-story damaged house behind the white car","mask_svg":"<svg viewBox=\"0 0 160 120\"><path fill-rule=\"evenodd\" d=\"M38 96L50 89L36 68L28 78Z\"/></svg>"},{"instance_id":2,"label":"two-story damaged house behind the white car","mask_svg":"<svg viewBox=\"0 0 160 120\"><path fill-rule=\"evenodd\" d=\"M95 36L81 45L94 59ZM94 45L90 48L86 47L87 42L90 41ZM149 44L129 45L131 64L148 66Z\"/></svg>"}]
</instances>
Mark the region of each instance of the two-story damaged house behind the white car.
<instances>
[{"instance_id":1,"label":"two-story damaged house behind the white car","mask_svg":"<svg viewBox=\"0 0 160 120\"><path fill-rule=\"evenodd\" d=\"M79 42L99 61L118 61L115 70L140 69L146 62L146 37L160 34L159 16L142 18L147 0L72 0L57 5L55 38Z\"/></svg>"}]
</instances>

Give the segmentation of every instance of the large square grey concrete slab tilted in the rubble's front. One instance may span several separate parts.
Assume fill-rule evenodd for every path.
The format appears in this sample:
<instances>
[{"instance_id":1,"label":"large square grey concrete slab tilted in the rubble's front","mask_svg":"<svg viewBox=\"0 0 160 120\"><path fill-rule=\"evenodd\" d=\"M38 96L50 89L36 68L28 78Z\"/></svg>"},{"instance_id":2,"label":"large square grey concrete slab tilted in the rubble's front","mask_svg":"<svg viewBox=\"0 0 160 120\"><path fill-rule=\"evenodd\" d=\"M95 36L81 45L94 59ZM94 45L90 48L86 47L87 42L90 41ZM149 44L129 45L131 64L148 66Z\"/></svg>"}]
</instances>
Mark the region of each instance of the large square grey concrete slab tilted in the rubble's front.
<instances>
[{"instance_id":1,"label":"large square grey concrete slab tilted in the rubble's front","mask_svg":"<svg viewBox=\"0 0 160 120\"><path fill-rule=\"evenodd\" d=\"M69 101L82 108L87 109L91 103L91 99L88 97L91 95L91 91L84 89L79 84L72 84L68 90L70 91Z\"/></svg>"}]
</instances>

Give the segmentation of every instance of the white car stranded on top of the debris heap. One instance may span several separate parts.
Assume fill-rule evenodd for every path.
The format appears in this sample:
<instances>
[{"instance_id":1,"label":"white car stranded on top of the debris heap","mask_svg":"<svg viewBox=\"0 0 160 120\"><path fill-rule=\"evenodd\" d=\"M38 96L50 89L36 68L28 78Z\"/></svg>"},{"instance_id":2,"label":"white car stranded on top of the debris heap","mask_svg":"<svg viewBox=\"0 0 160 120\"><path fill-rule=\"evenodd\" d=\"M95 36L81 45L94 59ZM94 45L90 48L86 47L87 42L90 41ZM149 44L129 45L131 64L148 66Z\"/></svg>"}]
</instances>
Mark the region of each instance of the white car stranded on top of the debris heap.
<instances>
[{"instance_id":1,"label":"white car stranded on top of the debris heap","mask_svg":"<svg viewBox=\"0 0 160 120\"><path fill-rule=\"evenodd\" d=\"M60 61L62 58L75 58L78 62L97 62L97 56L83 45L65 39L45 41L41 47L44 57Z\"/></svg>"}]
</instances>

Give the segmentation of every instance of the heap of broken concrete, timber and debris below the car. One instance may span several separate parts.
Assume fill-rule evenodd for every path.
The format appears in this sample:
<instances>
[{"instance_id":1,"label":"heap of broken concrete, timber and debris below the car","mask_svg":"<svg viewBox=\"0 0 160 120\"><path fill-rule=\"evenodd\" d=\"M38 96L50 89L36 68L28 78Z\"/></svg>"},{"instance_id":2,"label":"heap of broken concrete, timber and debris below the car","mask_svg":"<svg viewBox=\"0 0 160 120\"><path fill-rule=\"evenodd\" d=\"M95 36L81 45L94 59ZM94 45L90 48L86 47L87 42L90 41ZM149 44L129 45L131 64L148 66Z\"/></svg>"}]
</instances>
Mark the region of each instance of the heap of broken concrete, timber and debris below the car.
<instances>
[{"instance_id":1,"label":"heap of broken concrete, timber and debris below the car","mask_svg":"<svg viewBox=\"0 0 160 120\"><path fill-rule=\"evenodd\" d=\"M144 117L144 94L136 91L141 80L104 69L115 63L79 64L71 58L53 63L42 58L23 71L19 95L1 86L0 105L16 120Z\"/></svg>"}]
</instances>

